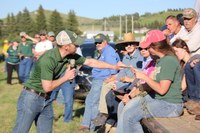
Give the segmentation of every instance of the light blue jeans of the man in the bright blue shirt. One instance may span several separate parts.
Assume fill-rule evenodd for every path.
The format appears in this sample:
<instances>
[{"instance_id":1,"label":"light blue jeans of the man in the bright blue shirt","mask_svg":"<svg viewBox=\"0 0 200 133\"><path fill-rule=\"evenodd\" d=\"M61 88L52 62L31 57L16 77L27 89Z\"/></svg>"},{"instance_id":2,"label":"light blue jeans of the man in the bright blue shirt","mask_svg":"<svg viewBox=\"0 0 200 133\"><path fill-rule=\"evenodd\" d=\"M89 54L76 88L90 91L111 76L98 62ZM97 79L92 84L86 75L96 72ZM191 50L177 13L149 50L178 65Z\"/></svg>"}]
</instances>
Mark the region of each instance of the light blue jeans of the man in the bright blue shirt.
<instances>
[{"instance_id":1,"label":"light blue jeans of the man in the bright blue shirt","mask_svg":"<svg viewBox=\"0 0 200 133\"><path fill-rule=\"evenodd\" d=\"M95 129L95 125L91 120L95 119L98 114L99 99L101 88L104 80L92 80L91 90L89 91L85 101L85 111L81 125L87 126L90 130Z\"/></svg>"}]
</instances>

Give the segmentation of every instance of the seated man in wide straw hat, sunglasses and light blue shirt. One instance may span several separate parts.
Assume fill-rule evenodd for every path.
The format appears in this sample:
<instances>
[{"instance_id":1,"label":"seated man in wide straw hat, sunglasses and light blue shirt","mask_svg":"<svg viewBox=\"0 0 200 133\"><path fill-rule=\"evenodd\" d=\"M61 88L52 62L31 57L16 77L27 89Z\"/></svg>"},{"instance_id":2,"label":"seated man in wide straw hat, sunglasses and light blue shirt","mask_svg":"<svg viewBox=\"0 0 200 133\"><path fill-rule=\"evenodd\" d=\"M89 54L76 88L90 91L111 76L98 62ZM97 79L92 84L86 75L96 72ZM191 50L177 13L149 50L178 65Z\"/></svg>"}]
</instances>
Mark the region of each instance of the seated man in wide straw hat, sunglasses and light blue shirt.
<instances>
[{"instance_id":1,"label":"seated man in wide straw hat, sunglasses and light blue shirt","mask_svg":"<svg viewBox=\"0 0 200 133\"><path fill-rule=\"evenodd\" d=\"M122 62L126 66L142 69L143 57L141 56L139 50L136 49L136 47L139 45L139 42L135 40L135 37L132 33L125 33L123 39L124 40L122 42L116 44L117 47L120 46L122 49L127 51L127 54L124 55ZM132 81L129 81L129 77L134 77L129 68L120 70L116 79L112 81L113 83L116 83L115 90L124 90L125 88L128 88L132 84ZM115 126L117 121L117 107L119 100L116 100L116 97L113 95L114 91L111 90L112 86L113 84L110 86L103 86L99 104L100 113L98 114L97 118L93 120L93 123L96 126L103 125L106 121L106 130L109 130L111 125Z\"/></svg>"}]
</instances>

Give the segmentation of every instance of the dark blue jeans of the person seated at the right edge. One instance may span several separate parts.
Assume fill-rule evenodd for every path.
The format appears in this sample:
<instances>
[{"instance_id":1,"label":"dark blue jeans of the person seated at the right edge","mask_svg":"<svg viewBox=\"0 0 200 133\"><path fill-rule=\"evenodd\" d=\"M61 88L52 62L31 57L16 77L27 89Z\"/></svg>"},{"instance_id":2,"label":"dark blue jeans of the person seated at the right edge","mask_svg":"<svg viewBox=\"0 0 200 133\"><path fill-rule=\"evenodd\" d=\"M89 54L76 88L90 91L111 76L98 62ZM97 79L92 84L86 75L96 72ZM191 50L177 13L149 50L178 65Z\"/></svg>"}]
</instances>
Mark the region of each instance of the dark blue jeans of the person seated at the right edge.
<instances>
[{"instance_id":1,"label":"dark blue jeans of the person seated at the right edge","mask_svg":"<svg viewBox=\"0 0 200 133\"><path fill-rule=\"evenodd\" d=\"M200 62L193 69L188 62L185 66L185 76L189 99L200 102Z\"/></svg>"}]
</instances>

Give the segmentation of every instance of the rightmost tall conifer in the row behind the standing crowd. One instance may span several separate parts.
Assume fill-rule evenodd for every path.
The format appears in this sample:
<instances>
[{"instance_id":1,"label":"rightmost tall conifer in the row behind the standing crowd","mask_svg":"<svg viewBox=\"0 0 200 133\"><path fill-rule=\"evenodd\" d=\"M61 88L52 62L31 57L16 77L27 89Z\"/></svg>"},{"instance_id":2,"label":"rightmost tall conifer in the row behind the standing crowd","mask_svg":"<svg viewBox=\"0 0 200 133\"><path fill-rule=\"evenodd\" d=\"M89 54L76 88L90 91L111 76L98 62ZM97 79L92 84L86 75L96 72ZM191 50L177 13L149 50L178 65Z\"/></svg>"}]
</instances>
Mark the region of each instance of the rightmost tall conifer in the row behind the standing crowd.
<instances>
[{"instance_id":1,"label":"rightmost tall conifer in the row behind the standing crowd","mask_svg":"<svg viewBox=\"0 0 200 133\"><path fill-rule=\"evenodd\" d=\"M70 10L68 13L66 26L68 30L75 32L77 35L82 34L82 32L78 29L79 24L76 18L76 14L73 10Z\"/></svg>"}]
</instances>

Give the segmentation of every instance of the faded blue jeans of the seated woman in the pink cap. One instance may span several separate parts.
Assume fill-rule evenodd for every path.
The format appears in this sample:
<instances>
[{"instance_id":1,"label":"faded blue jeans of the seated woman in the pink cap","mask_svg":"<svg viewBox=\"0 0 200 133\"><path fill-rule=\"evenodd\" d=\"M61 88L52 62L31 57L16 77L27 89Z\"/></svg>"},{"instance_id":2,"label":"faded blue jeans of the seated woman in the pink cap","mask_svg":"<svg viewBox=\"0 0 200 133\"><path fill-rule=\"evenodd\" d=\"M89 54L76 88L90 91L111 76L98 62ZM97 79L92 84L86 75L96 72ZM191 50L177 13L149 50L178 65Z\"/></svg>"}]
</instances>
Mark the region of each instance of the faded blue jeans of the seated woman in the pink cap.
<instances>
[{"instance_id":1,"label":"faded blue jeans of the seated woman in the pink cap","mask_svg":"<svg viewBox=\"0 0 200 133\"><path fill-rule=\"evenodd\" d=\"M137 96L126 105L120 102L116 133L143 133L140 120L149 117L177 117L183 112L183 103L169 103L150 95Z\"/></svg>"}]
</instances>

